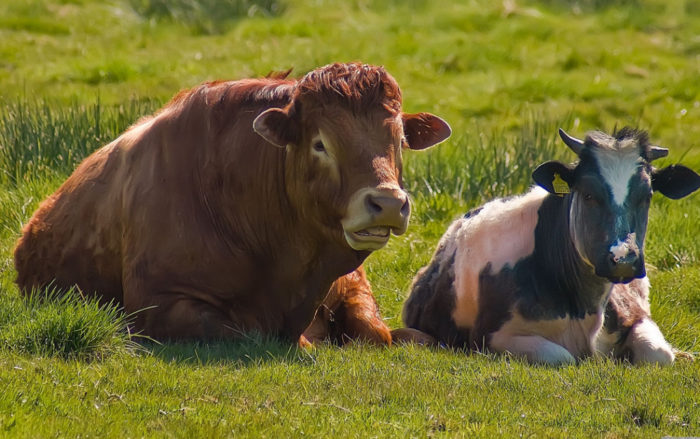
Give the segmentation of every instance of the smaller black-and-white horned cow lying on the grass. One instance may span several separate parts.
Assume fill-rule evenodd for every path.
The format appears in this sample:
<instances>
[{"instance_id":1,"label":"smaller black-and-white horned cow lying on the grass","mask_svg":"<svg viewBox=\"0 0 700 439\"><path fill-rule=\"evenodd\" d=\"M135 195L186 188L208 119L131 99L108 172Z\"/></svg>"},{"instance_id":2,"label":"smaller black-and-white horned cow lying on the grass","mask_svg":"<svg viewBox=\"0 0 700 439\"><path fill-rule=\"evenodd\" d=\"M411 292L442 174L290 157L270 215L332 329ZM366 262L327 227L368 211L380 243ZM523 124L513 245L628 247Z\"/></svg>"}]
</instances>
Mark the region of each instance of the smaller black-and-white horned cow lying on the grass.
<instances>
[{"instance_id":1,"label":"smaller black-and-white horned cow lying on the grass","mask_svg":"<svg viewBox=\"0 0 700 439\"><path fill-rule=\"evenodd\" d=\"M546 162L526 194L455 221L413 281L403 310L413 329L396 338L419 330L447 345L547 364L595 353L674 360L651 320L644 236L652 191L682 198L700 187L700 175L653 168L668 150L642 131L594 131L585 141L560 135L578 162Z\"/></svg>"}]
</instances>

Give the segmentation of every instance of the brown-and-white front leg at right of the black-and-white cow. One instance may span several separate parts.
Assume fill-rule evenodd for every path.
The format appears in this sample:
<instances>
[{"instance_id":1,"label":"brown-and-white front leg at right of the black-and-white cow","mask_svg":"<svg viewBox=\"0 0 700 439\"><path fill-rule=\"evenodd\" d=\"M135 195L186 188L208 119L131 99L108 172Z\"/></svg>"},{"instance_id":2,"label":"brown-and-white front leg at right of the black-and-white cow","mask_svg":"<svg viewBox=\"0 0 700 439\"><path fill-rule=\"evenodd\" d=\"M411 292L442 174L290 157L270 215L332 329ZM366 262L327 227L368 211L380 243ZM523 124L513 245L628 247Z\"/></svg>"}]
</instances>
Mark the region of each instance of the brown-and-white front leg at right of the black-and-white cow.
<instances>
[{"instance_id":1,"label":"brown-and-white front leg at right of the black-and-white cow","mask_svg":"<svg viewBox=\"0 0 700 439\"><path fill-rule=\"evenodd\" d=\"M648 278L613 287L597 350L633 364L673 363L674 350L651 319Z\"/></svg>"}]
</instances>

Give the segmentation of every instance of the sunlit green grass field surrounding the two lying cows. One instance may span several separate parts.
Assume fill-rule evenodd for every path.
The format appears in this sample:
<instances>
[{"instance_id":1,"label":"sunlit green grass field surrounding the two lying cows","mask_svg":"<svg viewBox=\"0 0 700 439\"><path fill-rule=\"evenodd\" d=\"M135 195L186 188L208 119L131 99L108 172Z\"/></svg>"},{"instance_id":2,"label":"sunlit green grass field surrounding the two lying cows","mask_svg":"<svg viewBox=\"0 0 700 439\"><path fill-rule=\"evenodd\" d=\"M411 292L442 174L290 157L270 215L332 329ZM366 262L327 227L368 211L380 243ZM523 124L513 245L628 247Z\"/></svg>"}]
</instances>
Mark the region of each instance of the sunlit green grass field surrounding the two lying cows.
<instances>
[{"instance_id":1,"label":"sunlit green grass field surrounding the two lying cows","mask_svg":"<svg viewBox=\"0 0 700 439\"><path fill-rule=\"evenodd\" d=\"M5 0L0 4L0 437L700 436L700 361L558 369L420 347L130 339L119 310L23 300L22 224L85 155L182 88L381 64L453 136L405 155L409 232L367 261L401 326L413 274L468 208L573 159L559 126L633 125L700 171L699 0ZM700 355L700 195L655 195L652 312Z\"/></svg>"}]
</instances>

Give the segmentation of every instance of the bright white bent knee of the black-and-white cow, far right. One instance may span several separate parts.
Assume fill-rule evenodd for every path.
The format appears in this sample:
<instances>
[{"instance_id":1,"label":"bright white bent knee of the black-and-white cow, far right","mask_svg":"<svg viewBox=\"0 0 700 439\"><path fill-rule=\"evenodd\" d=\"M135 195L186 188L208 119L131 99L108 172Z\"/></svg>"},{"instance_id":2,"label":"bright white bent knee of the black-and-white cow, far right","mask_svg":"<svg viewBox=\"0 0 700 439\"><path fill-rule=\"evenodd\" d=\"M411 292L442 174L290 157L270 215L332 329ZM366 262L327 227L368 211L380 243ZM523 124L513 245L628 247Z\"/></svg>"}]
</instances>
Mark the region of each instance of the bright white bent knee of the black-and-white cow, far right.
<instances>
[{"instance_id":1,"label":"bright white bent knee of the black-and-white cow, far right","mask_svg":"<svg viewBox=\"0 0 700 439\"><path fill-rule=\"evenodd\" d=\"M673 363L675 356L663 334L651 319L644 319L634 325L627 341L627 347L632 351L632 362L655 363L666 365Z\"/></svg>"}]
</instances>

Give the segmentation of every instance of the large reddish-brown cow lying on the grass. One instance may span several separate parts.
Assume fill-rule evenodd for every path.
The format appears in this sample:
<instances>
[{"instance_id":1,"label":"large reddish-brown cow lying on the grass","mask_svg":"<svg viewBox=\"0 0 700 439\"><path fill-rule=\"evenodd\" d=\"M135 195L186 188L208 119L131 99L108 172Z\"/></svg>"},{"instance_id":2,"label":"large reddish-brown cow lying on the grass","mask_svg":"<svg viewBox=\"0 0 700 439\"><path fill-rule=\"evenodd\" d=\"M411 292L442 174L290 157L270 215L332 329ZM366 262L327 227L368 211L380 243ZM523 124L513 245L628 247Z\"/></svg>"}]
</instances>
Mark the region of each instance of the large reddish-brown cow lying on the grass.
<instances>
[{"instance_id":1,"label":"large reddish-brown cow lying on the grass","mask_svg":"<svg viewBox=\"0 0 700 439\"><path fill-rule=\"evenodd\" d=\"M296 340L331 284L406 230L402 148L449 135L436 116L402 113L381 67L205 83L39 206L17 284L116 300L155 338Z\"/></svg>"}]
</instances>

